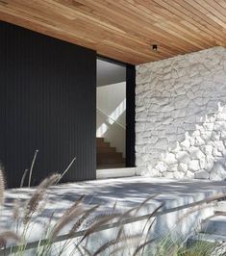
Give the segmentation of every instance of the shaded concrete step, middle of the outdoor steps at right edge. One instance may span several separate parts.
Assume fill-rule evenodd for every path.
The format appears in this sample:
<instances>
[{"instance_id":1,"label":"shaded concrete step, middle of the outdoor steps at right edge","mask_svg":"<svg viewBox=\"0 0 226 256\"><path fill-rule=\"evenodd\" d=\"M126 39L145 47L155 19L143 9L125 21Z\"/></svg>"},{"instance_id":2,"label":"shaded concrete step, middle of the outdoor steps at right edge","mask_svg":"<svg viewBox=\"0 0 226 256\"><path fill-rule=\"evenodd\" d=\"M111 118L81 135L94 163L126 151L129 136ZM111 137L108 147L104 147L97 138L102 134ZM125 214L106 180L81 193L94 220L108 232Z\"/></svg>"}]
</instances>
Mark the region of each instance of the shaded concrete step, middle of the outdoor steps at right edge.
<instances>
[{"instance_id":1,"label":"shaded concrete step, middle of the outdoor steps at right edge","mask_svg":"<svg viewBox=\"0 0 226 256\"><path fill-rule=\"evenodd\" d=\"M226 217L214 216L201 224L201 233L226 237Z\"/></svg>"}]
</instances>

